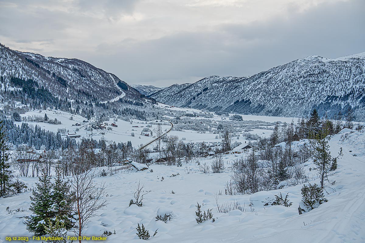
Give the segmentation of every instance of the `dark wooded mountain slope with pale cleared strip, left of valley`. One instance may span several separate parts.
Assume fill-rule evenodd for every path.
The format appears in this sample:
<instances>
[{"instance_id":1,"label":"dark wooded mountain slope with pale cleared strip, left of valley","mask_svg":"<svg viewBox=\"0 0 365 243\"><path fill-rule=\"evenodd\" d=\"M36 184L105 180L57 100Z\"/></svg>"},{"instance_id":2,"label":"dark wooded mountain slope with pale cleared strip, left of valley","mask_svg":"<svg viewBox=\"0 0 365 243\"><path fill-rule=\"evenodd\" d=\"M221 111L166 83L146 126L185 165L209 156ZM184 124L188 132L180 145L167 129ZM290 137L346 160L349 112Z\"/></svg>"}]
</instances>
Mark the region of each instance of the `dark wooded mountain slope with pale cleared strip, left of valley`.
<instances>
[{"instance_id":1,"label":"dark wooded mountain slope with pale cleared strip, left of valley","mask_svg":"<svg viewBox=\"0 0 365 243\"><path fill-rule=\"evenodd\" d=\"M58 98L106 102L124 97L142 101L141 94L126 82L87 62L15 51L1 44L0 77L10 87L16 86L12 78L32 79Z\"/></svg>"}]
</instances>

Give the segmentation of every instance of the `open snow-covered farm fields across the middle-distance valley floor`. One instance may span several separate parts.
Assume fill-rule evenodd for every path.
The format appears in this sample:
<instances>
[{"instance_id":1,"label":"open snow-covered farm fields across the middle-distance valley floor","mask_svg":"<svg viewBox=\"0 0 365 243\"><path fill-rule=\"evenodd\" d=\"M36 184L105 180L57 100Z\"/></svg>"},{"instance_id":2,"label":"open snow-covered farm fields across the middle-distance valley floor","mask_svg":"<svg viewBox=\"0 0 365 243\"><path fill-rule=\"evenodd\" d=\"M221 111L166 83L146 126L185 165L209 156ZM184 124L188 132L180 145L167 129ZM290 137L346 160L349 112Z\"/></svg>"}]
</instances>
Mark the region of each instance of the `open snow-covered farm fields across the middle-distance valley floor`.
<instances>
[{"instance_id":1,"label":"open snow-covered farm fields across the middle-distance valley floor","mask_svg":"<svg viewBox=\"0 0 365 243\"><path fill-rule=\"evenodd\" d=\"M197 114L208 114L208 112L206 111L201 111L201 110L196 110L196 109L187 109L187 108L178 108L178 107L165 107L165 105L163 104L159 104L159 106L161 106L161 108L164 108L166 110L171 110L171 111L176 111L176 110L180 110L180 111L189 111L189 112L195 112ZM22 117L44 117L45 114L47 114L47 117L49 119L57 119L58 121L60 121L62 124L59 125L55 125L55 124L49 124L49 123L45 123L45 122L32 122L32 121L26 121L26 123L35 126L38 125L40 126L42 129L45 130L49 130L52 132L57 133L57 131L59 129L65 129L66 133L61 133L61 135L63 134L64 137L67 136L68 133L73 134L76 133L76 135L80 135L81 138L85 137L85 138L93 138L95 140L100 140L101 138L104 138L107 141L115 141L116 143L118 142L127 142L127 141L131 141L132 145L134 147L137 147L138 145L144 145L147 144L149 141L153 140L153 138L156 137L156 129L157 129L157 124L160 123L161 128L162 128L162 132L165 132L167 130L169 130L171 128L170 124L169 124L169 119L173 118L173 117L169 117L169 116L165 116L163 120L160 119L156 119L153 121L140 121L138 119L131 119L130 121L124 121L122 119L119 119L118 121L114 121L112 118L110 119L110 121L105 121L107 122L109 125L107 125L106 127L111 128L112 130L108 130L108 129L103 129L103 130L86 130L86 128L89 126L89 122L95 122L94 120L90 120L89 122L83 122L86 121L87 119L85 117L81 117L80 115L74 115L74 114L70 114L68 112L65 111L60 111L60 110L37 110L37 111L28 111L25 114L22 114ZM213 113L210 113L213 114ZM230 114L232 115L232 114ZM72 117L73 119L71 120L70 117ZM280 121L280 122L291 122L292 119L294 119L294 121L296 122L296 118L288 118L288 117L264 117L264 116L255 116L255 115L242 115L243 120L247 121L245 124L246 126L253 126L256 127L257 122L264 122L265 124L268 124L270 122L276 122L276 121ZM191 122L196 122L197 119L203 119L203 123L204 124L209 124L210 122L214 122L215 124L219 124L220 122L232 122L228 120L227 116L220 116L220 115L216 115L214 114L214 116L212 118L204 118L204 117L182 117L183 119L188 119L191 120ZM252 121L252 122L251 122ZM81 126L74 126L76 123L80 123ZM115 123L116 125L118 125L118 127L112 127L111 124ZM21 125L22 122L15 122L16 125ZM147 125L149 127L147 127ZM148 128L152 131L153 135L151 136L151 134L149 134L149 136L144 136L142 132L143 129ZM273 128L273 125L268 125L268 126L262 126L262 127L258 127L259 129L250 129L250 131L248 133L251 134L257 134L260 135L261 137L268 137L270 136L270 134L272 133L272 130L268 130L268 128ZM134 136L132 136L131 134L134 133ZM150 133L150 132L148 132ZM243 132L237 132L237 135L241 135L243 134ZM180 139L181 138L185 138L184 142L185 143L199 143L199 142L220 142L222 139L216 138L216 136L218 134L216 134L213 131L197 131L197 130L190 130L190 129L183 129L182 131L178 131L178 130L172 130L171 132L168 133L168 135L176 135L178 136ZM76 141L79 141L81 138L76 138ZM241 142L241 143L248 143L250 140L247 140L244 136L234 136L232 137L232 142ZM153 147L156 146L156 143L153 143L149 146L147 146L147 148L149 149L153 149Z\"/></svg>"}]
</instances>

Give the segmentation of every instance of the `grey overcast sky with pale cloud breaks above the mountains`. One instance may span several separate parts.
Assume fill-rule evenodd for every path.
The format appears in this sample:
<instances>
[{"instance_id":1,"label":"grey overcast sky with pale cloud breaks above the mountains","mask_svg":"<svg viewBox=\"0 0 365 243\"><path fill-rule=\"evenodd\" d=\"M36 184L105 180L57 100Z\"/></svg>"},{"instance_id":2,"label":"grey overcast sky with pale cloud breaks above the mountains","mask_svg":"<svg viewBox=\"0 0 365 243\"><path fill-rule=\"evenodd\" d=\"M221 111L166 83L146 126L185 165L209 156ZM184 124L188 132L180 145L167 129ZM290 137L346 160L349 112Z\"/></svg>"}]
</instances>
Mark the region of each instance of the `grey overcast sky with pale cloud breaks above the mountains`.
<instances>
[{"instance_id":1,"label":"grey overcast sky with pale cloud breaks above the mountains","mask_svg":"<svg viewBox=\"0 0 365 243\"><path fill-rule=\"evenodd\" d=\"M364 9L364 0L0 0L0 43L169 86L364 52Z\"/></svg>"}]
</instances>

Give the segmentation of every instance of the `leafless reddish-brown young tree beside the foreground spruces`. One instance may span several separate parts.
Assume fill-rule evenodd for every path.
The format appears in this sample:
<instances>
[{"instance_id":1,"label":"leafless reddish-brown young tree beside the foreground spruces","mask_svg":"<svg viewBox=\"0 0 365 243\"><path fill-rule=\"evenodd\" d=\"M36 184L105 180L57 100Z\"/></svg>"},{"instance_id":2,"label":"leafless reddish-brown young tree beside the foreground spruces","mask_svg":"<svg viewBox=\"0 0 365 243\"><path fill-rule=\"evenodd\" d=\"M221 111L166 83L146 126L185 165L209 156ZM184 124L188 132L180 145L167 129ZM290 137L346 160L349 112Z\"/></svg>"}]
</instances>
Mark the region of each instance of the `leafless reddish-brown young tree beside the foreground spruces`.
<instances>
[{"instance_id":1,"label":"leafless reddish-brown young tree beside the foreground spruces","mask_svg":"<svg viewBox=\"0 0 365 243\"><path fill-rule=\"evenodd\" d=\"M105 184L98 186L91 171L74 174L69 180L75 193L73 210L77 212L77 223L74 228L76 236L81 236L82 230L92 217L99 216L98 211L107 206ZM81 239L79 240L81 243Z\"/></svg>"}]
</instances>

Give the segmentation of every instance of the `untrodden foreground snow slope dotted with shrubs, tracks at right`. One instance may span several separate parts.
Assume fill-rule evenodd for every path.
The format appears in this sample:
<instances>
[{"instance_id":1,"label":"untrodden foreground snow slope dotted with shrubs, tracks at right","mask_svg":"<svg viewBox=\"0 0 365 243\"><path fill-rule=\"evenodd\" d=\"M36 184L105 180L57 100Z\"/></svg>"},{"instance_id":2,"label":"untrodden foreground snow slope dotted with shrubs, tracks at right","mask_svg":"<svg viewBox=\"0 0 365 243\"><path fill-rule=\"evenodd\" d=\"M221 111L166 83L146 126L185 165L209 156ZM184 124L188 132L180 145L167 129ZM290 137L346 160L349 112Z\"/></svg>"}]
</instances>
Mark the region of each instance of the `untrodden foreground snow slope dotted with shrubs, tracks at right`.
<instances>
[{"instance_id":1,"label":"untrodden foreground snow slope dotted with shrubs, tracks at right","mask_svg":"<svg viewBox=\"0 0 365 243\"><path fill-rule=\"evenodd\" d=\"M143 223L151 235L158 229L150 242L365 242L365 132L337 134L331 138L330 145L333 154L343 148L337 173L330 177L335 184L326 183L328 202L303 215L297 210L302 185L253 195L228 196L224 195L224 184L230 177L227 169L220 174L203 174L196 163L183 163L182 167L151 165L153 172L117 173L95 179L98 183L106 183L110 204L101 211L100 217L87 224L84 234L101 236L105 230L115 230L116 234L108 236L106 242L142 242L137 238L135 228L137 223ZM226 155L224 162L235 158ZM211 158L201 158L200 164L211 161ZM309 171L312 162L305 165L309 182L319 183L316 174ZM97 171L101 169L97 168ZM170 177L177 173L180 175ZM161 177L165 179L161 181ZM37 180L21 179L31 187ZM139 181L151 192L142 207L128 207ZM218 213L214 195L219 191L223 192L219 196L220 203L237 200L245 205L245 210ZM279 192L289 193L289 200L293 202L291 207L263 205L266 197ZM28 192L0 199L0 242L4 242L6 236L31 235L23 224L24 216L30 214L30 195ZM203 205L202 210L213 209L215 222L196 223L197 203ZM26 211L10 214L7 207ZM155 221L157 212L172 212L174 217L167 223Z\"/></svg>"}]
</instances>

